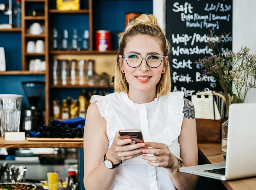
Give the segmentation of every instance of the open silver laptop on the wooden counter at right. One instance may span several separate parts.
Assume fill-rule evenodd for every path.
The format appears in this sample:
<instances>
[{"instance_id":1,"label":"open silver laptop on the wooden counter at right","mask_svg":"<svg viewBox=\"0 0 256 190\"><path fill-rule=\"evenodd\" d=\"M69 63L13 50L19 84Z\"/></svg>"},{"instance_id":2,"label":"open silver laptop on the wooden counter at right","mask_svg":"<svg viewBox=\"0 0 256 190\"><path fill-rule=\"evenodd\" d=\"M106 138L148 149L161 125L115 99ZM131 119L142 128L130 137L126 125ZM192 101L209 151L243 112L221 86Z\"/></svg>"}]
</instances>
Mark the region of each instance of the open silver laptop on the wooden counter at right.
<instances>
[{"instance_id":1,"label":"open silver laptop on the wooden counter at right","mask_svg":"<svg viewBox=\"0 0 256 190\"><path fill-rule=\"evenodd\" d=\"M256 176L256 103L230 105L226 155L226 162L180 171L223 181Z\"/></svg>"}]
</instances>

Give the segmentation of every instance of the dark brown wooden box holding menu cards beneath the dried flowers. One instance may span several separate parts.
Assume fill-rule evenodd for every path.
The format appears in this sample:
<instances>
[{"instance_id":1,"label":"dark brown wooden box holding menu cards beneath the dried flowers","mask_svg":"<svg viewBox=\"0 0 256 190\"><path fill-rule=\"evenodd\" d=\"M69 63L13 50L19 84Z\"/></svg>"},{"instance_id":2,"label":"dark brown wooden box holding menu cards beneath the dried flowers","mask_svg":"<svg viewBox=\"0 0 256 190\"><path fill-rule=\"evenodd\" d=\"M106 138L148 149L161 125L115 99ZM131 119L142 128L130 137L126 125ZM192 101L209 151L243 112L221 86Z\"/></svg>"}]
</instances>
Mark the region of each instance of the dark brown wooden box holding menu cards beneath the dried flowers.
<instances>
[{"instance_id":1,"label":"dark brown wooden box holding menu cards beneath the dried flowers","mask_svg":"<svg viewBox=\"0 0 256 190\"><path fill-rule=\"evenodd\" d=\"M196 118L197 141L221 143L222 123L228 118L221 120L207 120Z\"/></svg>"}]
</instances>

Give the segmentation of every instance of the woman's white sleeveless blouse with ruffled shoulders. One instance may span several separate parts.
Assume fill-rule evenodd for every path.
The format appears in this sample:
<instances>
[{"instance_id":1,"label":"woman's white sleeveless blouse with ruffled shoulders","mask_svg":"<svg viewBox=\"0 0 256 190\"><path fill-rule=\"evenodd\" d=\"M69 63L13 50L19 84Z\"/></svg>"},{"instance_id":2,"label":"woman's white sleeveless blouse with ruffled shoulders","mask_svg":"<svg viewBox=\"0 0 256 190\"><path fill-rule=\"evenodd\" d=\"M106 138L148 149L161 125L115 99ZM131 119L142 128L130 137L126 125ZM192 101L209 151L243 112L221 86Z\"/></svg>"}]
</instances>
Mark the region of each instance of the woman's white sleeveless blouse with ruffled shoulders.
<instances>
[{"instance_id":1,"label":"woman's white sleeveless blouse with ruffled shoulders","mask_svg":"<svg viewBox=\"0 0 256 190\"><path fill-rule=\"evenodd\" d=\"M183 92L168 93L149 103L137 104L127 93L92 96L101 116L107 121L110 148L115 134L121 129L139 129L144 141L168 145L172 154L180 156L180 135L183 121ZM142 156L142 155L141 155ZM112 190L175 190L167 169L153 167L141 156L118 167Z\"/></svg>"}]
</instances>

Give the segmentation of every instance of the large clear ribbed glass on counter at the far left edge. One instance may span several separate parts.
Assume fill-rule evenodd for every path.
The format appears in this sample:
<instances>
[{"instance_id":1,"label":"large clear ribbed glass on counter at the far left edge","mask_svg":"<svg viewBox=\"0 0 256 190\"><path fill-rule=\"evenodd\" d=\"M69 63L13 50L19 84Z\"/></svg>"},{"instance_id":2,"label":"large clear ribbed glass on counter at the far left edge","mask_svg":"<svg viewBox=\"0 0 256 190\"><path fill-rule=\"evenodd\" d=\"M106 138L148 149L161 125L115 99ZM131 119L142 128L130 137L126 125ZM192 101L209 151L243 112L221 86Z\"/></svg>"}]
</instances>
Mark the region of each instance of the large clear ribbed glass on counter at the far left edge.
<instances>
[{"instance_id":1,"label":"large clear ribbed glass on counter at the far left edge","mask_svg":"<svg viewBox=\"0 0 256 190\"><path fill-rule=\"evenodd\" d=\"M0 95L2 137L6 132L19 132L22 97L17 94Z\"/></svg>"}]
</instances>

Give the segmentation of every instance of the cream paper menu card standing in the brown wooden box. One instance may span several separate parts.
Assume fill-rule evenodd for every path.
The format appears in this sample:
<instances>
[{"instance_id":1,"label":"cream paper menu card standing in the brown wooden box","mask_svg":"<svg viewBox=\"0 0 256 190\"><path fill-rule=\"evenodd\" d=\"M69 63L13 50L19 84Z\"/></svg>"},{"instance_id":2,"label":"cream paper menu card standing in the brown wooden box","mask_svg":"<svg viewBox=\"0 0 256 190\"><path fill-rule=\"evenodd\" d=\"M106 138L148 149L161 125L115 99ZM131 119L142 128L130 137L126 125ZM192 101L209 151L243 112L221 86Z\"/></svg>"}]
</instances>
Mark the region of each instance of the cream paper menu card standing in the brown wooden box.
<instances>
[{"instance_id":1,"label":"cream paper menu card standing in the brown wooden box","mask_svg":"<svg viewBox=\"0 0 256 190\"><path fill-rule=\"evenodd\" d=\"M192 95L196 118L219 120L220 114L213 95Z\"/></svg>"}]
</instances>

